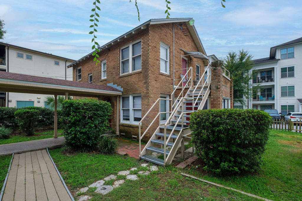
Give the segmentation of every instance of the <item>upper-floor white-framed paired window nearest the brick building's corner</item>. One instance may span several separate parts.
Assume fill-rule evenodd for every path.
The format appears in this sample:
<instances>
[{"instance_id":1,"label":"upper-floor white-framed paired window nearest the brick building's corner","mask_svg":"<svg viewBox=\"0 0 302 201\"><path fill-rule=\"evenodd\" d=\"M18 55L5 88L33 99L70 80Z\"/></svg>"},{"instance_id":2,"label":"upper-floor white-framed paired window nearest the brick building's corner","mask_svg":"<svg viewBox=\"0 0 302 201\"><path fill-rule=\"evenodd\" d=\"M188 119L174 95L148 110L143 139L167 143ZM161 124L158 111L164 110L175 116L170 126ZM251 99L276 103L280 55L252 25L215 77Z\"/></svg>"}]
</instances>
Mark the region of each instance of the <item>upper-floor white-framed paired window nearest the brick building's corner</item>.
<instances>
[{"instance_id":1,"label":"upper-floor white-framed paired window nearest the brick building's corner","mask_svg":"<svg viewBox=\"0 0 302 201\"><path fill-rule=\"evenodd\" d=\"M127 74L142 69L142 42L133 42L120 50L120 73Z\"/></svg>"}]
</instances>

